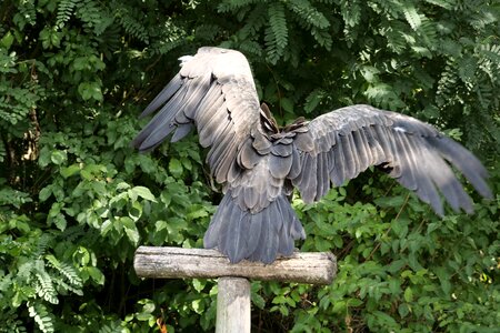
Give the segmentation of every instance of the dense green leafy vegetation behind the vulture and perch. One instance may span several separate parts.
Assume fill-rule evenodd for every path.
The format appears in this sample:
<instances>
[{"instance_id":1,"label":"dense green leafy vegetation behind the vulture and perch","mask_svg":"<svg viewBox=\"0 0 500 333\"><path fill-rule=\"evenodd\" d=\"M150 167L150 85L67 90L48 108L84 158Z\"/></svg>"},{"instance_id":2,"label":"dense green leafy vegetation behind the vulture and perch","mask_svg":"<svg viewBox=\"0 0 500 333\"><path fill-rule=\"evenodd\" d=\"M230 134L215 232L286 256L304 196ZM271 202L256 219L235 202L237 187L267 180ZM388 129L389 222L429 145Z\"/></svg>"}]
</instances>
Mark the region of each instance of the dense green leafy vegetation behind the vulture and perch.
<instances>
[{"instance_id":1,"label":"dense green leafy vegetation behind the vulture and perch","mask_svg":"<svg viewBox=\"0 0 500 333\"><path fill-rule=\"evenodd\" d=\"M497 0L3 0L0 332L212 331L213 281L140 280L140 244L201 248L220 200L196 137L138 154L141 109L201 46L241 50L281 123L351 103L431 122L491 173L436 216L381 173L293 199L332 285L252 284L256 332L497 332ZM469 189L470 190L470 189Z\"/></svg>"}]
</instances>

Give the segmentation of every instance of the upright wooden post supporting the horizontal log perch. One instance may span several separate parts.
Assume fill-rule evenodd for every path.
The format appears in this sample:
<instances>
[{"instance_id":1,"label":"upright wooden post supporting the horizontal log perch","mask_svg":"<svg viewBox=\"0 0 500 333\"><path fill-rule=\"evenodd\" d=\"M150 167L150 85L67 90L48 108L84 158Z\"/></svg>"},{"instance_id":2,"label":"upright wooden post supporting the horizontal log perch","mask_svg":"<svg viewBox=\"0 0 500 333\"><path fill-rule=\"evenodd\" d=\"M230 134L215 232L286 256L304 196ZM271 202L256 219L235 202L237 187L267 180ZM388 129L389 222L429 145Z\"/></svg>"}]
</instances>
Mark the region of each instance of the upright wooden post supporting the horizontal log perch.
<instances>
[{"instance_id":1,"label":"upright wooden post supporting the horizontal log perch","mask_svg":"<svg viewBox=\"0 0 500 333\"><path fill-rule=\"evenodd\" d=\"M216 333L250 333L250 282L243 278L219 278Z\"/></svg>"}]
</instances>

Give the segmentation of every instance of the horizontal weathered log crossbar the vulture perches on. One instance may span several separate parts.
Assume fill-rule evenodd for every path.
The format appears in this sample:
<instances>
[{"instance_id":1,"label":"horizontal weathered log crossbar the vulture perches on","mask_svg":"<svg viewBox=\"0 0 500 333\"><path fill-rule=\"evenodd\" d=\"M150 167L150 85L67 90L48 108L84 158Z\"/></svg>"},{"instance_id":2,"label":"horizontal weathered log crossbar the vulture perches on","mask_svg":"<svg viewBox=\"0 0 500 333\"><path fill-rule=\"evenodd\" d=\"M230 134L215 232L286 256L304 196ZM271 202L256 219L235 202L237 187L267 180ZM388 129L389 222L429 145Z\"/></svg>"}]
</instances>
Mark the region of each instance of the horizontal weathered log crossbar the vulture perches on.
<instances>
[{"instance_id":1,"label":"horizontal weathered log crossbar the vulture perches on","mask_svg":"<svg viewBox=\"0 0 500 333\"><path fill-rule=\"evenodd\" d=\"M328 252L296 252L272 264L242 261L231 264L216 250L140 246L133 262L140 278L217 279L247 278L264 281L330 284L337 273L337 259Z\"/></svg>"}]
</instances>

